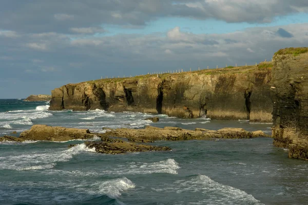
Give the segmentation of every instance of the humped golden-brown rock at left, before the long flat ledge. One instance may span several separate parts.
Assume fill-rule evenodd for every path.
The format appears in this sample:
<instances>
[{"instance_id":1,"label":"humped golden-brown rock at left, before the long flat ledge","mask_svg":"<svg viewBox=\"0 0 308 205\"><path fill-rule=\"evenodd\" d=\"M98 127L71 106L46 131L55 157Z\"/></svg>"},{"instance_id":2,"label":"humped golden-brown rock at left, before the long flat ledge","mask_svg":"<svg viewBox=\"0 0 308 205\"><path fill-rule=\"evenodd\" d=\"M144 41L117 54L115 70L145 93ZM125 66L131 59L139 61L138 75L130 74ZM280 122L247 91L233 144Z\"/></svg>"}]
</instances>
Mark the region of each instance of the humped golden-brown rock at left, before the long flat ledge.
<instances>
[{"instance_id":1,"label":"humped golden-brown rock at left, before the long flat ledge","mask_svg":"<svg viewBox=\"0 0 308 205\"><path fill-rule=\"evenodd\" d=\"M20 138L25 140L48 140L48 141L68 141L72 139L91 139L92 134L87 129L50 127L47 125L33 125L30 130L20 134Z\"/></svg>"}]
</instances>

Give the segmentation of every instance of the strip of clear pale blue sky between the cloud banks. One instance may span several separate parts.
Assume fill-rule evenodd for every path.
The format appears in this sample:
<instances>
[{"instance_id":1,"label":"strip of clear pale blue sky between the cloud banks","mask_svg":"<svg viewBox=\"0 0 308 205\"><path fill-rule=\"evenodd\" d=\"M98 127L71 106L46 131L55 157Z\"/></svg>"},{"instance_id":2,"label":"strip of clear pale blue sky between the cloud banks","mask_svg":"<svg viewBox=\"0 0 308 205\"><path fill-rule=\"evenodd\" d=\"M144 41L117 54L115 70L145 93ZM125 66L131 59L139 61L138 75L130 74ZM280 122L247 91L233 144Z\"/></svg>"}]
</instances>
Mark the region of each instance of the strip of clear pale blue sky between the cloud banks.
<instances>
[{"instance_id":1,"label":"strip of clear pale blue sky between the cloud banks","mask_svg":"<svg viewBox=\"0 0 308 205\"><path fill-rule=\"evenodd\" d=\"M151 20L146 23L146 26L135 28L125 28L119 25L102 25L107 32L100 35L115 35L115 34L151 34L156 32L166 33L171 28L180 27L185 32L195 34L221 34L231 33L235 31L243 31L247 28L253 27L275 27L286 26L289 24L300 24L308 22L308 13L295 13L286 16L276 16L272 22L269 23L226 23L223 20L217 19L194 19L190 17L161 17Z\"/></svg>"}]
</instances>

